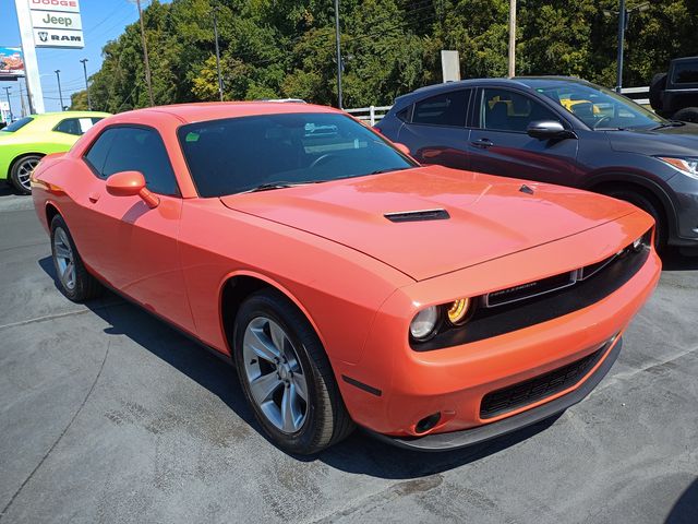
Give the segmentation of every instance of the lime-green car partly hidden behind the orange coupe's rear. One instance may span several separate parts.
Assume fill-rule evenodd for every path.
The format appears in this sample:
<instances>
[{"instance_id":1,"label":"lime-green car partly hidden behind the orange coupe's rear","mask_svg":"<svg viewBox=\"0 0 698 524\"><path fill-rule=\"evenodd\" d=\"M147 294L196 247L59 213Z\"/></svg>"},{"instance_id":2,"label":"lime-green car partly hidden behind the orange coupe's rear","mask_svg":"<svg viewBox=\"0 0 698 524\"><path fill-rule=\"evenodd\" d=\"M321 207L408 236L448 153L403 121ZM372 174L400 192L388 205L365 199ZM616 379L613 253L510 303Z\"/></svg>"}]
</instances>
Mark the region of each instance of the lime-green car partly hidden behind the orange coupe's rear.
<instances>
[{"instance_id":1,"label":"lime-green car partly hidden behind the orange coupe's rear","mask_svg":"<svg viewBox=\"0 0 698 524\"><path fill-rule=\"evenodd\" d=\"M108 112L63 111L32 115L0 129L0 180L29 194L29 176L43 156L62 153Z\"/></svg>"}]
</instances>

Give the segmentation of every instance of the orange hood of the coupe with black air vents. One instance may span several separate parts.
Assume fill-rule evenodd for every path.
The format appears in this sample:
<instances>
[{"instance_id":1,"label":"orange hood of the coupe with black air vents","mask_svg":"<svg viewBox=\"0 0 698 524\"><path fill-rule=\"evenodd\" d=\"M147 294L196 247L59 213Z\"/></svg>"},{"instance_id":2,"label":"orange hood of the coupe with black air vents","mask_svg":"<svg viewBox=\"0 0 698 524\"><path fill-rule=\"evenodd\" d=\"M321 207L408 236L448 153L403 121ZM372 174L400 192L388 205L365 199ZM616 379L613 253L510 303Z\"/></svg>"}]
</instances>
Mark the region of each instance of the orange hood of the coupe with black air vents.
<instances>
[{"instance_id":1,"label":"orange hood of the coupe with black air vents","mask_svg":"<svg viewBox=\"0 0 698 524\"><path fill-rule=\"evenodd\" d=\"M524 183L429 166L221 201L231 210L361 251L416 281L568 237L635 211L621 201L558 186L526 182L530 194L521 191ZM384 216L435 209L449 217L392 222Z\"/></svg>"}]
</instances>

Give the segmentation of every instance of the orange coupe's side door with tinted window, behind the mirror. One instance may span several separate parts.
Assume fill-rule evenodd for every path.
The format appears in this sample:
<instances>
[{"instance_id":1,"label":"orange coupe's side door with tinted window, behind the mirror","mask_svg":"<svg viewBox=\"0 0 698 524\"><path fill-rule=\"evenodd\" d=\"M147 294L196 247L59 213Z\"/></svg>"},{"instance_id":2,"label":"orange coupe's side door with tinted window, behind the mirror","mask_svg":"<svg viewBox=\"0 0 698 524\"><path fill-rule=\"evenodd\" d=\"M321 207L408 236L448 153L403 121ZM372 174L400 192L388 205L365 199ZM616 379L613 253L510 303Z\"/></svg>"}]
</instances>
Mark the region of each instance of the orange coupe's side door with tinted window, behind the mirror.
<instances>
[{"instance_id":1,"label":"orange coupe's side door with tinted window, behind the mirror","mask_svg":"<svg viewBox=\"0 0 698 524\"><path fill-rule=\"evenodd\" d=\"M98 179L88 194L92 228L101 237L96 271L146 309L194 332L178 253L182 199L158 131L131 124L106 128L84 162ZM107 178L128 170L143 174L159 199L156 207L137 195L107 192Z\"/></svg>"}]
</instances>

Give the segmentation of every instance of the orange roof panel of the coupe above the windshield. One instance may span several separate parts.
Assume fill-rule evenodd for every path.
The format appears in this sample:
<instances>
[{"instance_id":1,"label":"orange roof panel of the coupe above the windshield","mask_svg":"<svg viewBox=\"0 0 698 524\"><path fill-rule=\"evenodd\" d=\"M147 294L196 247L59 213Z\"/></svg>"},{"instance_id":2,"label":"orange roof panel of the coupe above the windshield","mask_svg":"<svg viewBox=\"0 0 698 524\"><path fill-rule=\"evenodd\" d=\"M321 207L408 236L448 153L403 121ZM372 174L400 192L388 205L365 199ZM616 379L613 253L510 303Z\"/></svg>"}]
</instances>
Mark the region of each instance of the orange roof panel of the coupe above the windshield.
<instances>
[{"instance_id":1,"label":"orange roof panel of the coupe above the windshield","mask_svg":"<svg viewBox=\"0 0 698 524\"><path fill-rule=\"evenodd\" d=\"M275 102L208 102L197 104L177 104L171 106L156 106L129 111L129 118L147 116L154 112L166 112L177 117L184 123L201 122L206 120L220 120L224 118L252 117L260 115L278 115L290 112L341 112L328 106L317 106L305 103Z\"/></svg>"}]
</instances>

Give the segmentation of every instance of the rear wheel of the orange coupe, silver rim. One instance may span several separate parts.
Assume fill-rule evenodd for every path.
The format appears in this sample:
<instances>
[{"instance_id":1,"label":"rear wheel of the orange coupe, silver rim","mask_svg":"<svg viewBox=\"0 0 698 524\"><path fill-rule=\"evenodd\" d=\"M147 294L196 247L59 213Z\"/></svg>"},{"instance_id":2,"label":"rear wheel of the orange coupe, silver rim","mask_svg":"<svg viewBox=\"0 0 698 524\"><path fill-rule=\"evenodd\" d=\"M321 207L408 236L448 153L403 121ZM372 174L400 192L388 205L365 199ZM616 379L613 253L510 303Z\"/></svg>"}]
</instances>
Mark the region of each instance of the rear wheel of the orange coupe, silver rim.
<instances>
[{"instance_id":1,"label":"rear wheel of the orange coupe, silver rim","mask_svg":"<svg viewBox=\"0 0 698 524\"><path fill-rule=\"evenodd\" d=\"M68 225L60 215L51 221L51 254L58 287L65 297L73 302L82 302L100 295L101 285L87 273Z\"/></svg>"}]
</instances>

